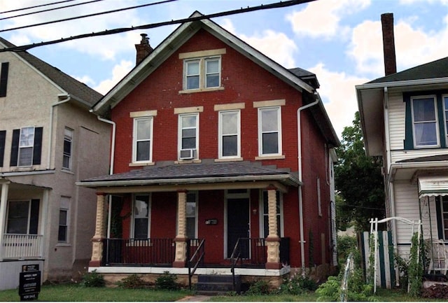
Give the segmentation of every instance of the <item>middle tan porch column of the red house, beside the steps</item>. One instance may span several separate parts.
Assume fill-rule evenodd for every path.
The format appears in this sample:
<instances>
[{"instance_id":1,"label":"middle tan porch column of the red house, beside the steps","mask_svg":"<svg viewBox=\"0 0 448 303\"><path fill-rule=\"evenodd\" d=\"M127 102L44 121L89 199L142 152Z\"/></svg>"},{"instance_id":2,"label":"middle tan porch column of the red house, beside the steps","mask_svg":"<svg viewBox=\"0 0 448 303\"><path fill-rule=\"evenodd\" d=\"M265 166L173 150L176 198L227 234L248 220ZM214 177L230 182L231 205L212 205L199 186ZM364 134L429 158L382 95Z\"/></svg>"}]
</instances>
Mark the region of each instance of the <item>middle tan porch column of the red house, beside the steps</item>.
<instances>
[{"instance_id":1,"label":"middle tan porch column of the red house, beside the steps","mask_svg":"<svg viewBox=\"0 0 448 303\"><path fill-rule=\"evenodd\" d=\"M187 260L187 191L179 190L177 192L177 234L174 242L176 243L176 255L173 267L185 267Z\"/></svg>"}]
</instances>

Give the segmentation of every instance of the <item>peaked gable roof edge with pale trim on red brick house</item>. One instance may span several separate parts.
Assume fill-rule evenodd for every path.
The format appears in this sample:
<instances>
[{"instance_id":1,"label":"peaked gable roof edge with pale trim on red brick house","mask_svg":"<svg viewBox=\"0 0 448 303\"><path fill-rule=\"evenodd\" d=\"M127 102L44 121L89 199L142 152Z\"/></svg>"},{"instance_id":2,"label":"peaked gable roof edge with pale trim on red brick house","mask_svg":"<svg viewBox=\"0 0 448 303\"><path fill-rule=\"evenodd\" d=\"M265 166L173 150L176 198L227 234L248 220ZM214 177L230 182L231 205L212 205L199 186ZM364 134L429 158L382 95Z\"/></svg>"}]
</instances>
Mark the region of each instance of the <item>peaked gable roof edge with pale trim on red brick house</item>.
<instances>
[{"instance_id":1,"label":"peaked gable roof edge with pale trim on red brick house","mask_svg":"<svg viewBox=\"0 0 448 303\"><path fill-rule=\"evenodd\" d=\"M200 17L203 16L198 11L195 11L190 17ZM146 57L140 64L134 67L130 73L128 73L125 78L120 80L120 82L113 87L97 104L93 106L93 111L99 113L99 115L105 115L110 108L113 108L122 99L124 99L127 94L129 94L134 87L137 87L144 79L146 79L155 69L162 64L170 55L172 55L183 43L188 41L194 34L200 29L205 29L210 34L216 38L224 41L227 45L237 50L248 59L251 59L255 64L262 66L262 68L267 71L274 73L275 76L281 78L289 85L295 87L297 90L302 92L303 90L309 93L314 93L316 87L312 87L302 77L309 77L311 73L296 70L290 71L280 64L274 62L274 60L263 55L260 51L251 47L241 39L237 38L229 31L223 29L215 22L209 19L195 20L191 22L185 22L181 24L177 29L175 29L172 34L165 38L162 43L160 43L151 52L148 57ZM300 72L300 76L297 73ZM307 79L308 80L308 79Z\"/></svg>"}]
</instances>

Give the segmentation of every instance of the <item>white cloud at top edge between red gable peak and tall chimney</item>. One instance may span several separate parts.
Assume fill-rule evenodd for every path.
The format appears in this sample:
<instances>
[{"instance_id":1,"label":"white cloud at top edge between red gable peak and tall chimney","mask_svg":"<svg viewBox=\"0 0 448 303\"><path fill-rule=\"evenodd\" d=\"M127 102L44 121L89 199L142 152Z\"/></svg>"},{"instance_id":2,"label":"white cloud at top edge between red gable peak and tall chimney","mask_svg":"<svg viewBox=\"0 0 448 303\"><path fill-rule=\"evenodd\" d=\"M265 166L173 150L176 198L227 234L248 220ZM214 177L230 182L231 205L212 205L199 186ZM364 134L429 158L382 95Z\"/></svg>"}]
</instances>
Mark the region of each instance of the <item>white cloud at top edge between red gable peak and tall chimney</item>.
<instances>
[{"instance_id":1,"label":"white cloud at top edge between red gable peak and tall chimney","mask_svg":"<svg viewBox=\"0 0 448 303\"><path fill-rule=\"evenodd\" d=\"M370 5L370 0L320 0L286 15L295 34L313 38L345 36L349 27L340 24L341 17L356 13Z\"/></svg>"}]
</instances>

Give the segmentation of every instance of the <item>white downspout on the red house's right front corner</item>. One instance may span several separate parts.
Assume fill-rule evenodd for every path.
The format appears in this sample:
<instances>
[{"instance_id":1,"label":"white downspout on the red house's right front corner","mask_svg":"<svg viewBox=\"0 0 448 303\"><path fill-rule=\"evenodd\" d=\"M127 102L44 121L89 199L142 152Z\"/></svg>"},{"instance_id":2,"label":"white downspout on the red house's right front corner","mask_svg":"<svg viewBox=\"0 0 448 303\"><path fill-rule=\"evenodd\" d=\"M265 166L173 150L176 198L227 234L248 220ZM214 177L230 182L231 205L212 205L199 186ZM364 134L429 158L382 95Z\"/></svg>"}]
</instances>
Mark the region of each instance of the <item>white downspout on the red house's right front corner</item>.
<instances>
[{"instance_id":1,"label":"white downspout on the red house's right front corner","mask_svg":"<svg viewBox=\"0 0 448 303\"><path fill-rule=\"evenodd\" d=\"M318 104L318 93L314 92L314 97L316 97L316 101L311 102L310 104L304 105L300 108L297 108L297 164L298 164L298 174L300 185L298 188L298 196L299 196L299 225L300 225L300 262L302 267L302 276L305 274L305 246L304 246L304 233L303 233L303 199L302 199L302 133L301 133L301 125L300 125L300 113L311 106Z\"/></svg>"}]
</instances>

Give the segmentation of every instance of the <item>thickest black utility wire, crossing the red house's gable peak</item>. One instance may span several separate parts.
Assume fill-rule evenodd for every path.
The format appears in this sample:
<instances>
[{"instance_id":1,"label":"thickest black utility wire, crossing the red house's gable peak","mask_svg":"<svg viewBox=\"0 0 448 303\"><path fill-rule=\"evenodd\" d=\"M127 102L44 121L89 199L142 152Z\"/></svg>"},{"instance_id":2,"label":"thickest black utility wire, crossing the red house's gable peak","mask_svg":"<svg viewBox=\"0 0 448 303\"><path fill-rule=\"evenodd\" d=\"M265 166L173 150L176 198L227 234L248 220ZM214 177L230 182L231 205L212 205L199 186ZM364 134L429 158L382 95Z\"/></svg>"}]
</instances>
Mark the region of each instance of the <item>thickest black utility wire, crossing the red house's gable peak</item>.
<instances>
[{"instance_id":1,"label":"thickest black utility wire, crossing the red house's gable peak","mask_svg":"<svg viewBox=\"0 0 448 303\"><path fill-rule=\"evenodd\" d=\"M188 17L188 18L183 18L183 19L179 19L179 20L145 24L145 25L140 25L138 27L125 27L125 28L121 28L121 29L110 29L110 30L106 30L106 31L99 31L97 33L80 34L77 36L70 36L68 38L60 38L58 40L52 40L52 41L46 41L46 42L40 42L40 43L32 43L32 44L27 44L27 45L22 45L22 46L15 46L13 48L0 48L0 52L9 52L9 51L22 52L24 50L36 48L38 46L50 45L50 44L55 44L55 43L60 43L60 42L65 42L65 41L71 41L71 40L76 40L76 39L80 39L80 38L89 38L89 37L94 37L94 36L106 36L106 35L111 35L111 34L120 34L120 33L126 32L126 31L134 31L136 29L153 29L155 27L162 27L165 25L193 22L193 21L197 21L197 20L210 19L213 17L223 17L223 16L227 16L227 15L236 15L239 13L247 13L247 12L251 12L251 11L255 11L255 10L265 10L265 9L270 9L270 8L283 8L283 7L294 6L297 4L307 3L307 2L311 2L311 1L315 1L315 0L290 0L290 1L271 3L271 4L267 4L267 5L254 6L252 8L248 7L248 8L241 8L239 10L227 10L227 11L224 11L221 13L202 15L199 17Z\"/></svg>"}]
</instances>

